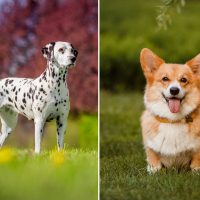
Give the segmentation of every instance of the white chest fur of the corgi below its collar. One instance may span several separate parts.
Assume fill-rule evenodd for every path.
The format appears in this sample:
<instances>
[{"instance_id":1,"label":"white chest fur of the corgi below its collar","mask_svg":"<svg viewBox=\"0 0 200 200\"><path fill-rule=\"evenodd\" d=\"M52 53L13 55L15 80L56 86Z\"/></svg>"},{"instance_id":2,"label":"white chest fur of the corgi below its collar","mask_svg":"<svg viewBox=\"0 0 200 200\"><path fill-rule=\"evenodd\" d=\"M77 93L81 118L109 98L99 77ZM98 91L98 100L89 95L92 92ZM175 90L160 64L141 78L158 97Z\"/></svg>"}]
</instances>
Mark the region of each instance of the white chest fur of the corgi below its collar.
<instances>
[{"instance_id":1,"label":"white chest fur of the corgi below its collar","mask_svg":"<svg viewBox=\"0 0 200 200\"><path fill-rule=\"evenodd\" d=\"M147 146L162 155L175 156L200 147L200 140L188 134L186 124L161 123L158 134L149 138Z\"/></svg>"}]
</instances>

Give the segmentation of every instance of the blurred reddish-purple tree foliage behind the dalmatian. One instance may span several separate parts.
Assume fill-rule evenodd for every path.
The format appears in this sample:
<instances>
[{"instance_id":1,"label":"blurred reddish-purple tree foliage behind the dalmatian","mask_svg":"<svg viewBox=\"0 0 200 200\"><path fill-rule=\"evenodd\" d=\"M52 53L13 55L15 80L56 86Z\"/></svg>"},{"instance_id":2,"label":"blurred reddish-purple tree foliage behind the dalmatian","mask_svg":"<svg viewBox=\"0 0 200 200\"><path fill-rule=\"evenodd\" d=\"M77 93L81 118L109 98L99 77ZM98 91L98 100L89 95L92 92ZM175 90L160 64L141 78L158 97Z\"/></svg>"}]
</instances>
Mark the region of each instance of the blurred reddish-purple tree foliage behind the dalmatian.
<instances>
[{"instance_id":1,"label":"blurred reddish-purple tree foliage behind the dalmatian","mask_svg":"<svg viewBox=\"0 0 200 200\"><path fill-rule=\"evenodd\" d=\"M9 0L0 5L0 76L36 77L41 48L69 41L79 51L69 72L71 107L94 112L98 96L97 0Z\"/></svg>"}]
</instances>

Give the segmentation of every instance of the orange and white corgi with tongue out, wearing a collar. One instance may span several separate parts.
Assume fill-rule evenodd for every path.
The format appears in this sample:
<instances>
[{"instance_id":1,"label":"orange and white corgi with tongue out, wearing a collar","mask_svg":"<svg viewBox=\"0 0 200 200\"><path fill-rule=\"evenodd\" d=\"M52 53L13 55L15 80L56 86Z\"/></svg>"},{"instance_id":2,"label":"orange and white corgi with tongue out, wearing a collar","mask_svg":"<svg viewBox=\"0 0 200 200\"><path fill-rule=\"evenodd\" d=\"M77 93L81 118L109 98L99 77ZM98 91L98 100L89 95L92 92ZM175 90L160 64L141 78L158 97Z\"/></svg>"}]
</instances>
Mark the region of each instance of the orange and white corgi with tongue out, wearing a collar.
<instances>
[{"instance_id":1,"label":"orange and white corgi with tongue out, wearing a collar","mask_svg":"<svg viewBox=\"0 0 200 200\"><path fill-rule=\"evenodd\" d=\"M140 62L147 82L141 117L147 171L200 170L200 54L169 64L144 48Z\"/></svg>"}]
</instances>

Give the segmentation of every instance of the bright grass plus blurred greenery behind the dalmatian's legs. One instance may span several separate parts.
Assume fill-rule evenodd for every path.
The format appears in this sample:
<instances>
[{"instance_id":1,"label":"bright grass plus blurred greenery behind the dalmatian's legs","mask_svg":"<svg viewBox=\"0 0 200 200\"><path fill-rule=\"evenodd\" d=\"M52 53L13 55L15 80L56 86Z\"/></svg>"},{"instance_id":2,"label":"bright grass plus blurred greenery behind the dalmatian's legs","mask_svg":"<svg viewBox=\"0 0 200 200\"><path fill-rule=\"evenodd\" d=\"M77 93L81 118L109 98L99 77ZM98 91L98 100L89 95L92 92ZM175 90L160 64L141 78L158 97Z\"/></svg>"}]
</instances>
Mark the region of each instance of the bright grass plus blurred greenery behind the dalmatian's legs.
<instances>
[{"instance_id":1,"label":"bright grass plus blurred greenery behind the dalmatian's legs","mask_svg":"<svg viewBox=\"0 0 200 200\"><path fill-rule=\"evenodd\" d=\"M97 114L70 115L61 154L55 122L45 128L41 154L34 154L33 125L19 120L0 150L0 200L97 200Z\"/></svg>"}]
</instances>

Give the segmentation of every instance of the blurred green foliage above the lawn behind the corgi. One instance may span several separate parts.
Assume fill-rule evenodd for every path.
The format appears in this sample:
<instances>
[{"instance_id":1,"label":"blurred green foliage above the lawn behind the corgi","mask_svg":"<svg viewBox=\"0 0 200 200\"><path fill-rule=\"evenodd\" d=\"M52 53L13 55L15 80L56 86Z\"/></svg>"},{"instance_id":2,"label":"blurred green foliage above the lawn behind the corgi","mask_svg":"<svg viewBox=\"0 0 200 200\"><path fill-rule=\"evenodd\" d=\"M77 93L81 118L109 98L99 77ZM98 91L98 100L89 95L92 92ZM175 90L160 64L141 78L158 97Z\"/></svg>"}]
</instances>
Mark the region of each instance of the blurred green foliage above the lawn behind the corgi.
<instances>
[{"instance_id":1,"label":"blurred green foliage above the lawn behind the corgi","mask_svg":"<svg viewBox=\"0 0 200 200\"><path fill-rule=\"evenodd\" d=\"M142 89L139 53L152 49L167 62L184 63L200 52L200 1L186 1L172 24L158 30L160 0L101 0L101 88L114 91Z\"/></svg>"}]
</instances>

